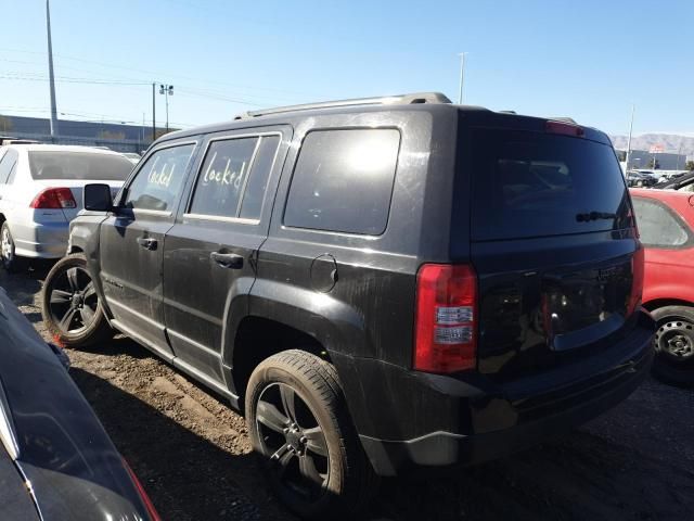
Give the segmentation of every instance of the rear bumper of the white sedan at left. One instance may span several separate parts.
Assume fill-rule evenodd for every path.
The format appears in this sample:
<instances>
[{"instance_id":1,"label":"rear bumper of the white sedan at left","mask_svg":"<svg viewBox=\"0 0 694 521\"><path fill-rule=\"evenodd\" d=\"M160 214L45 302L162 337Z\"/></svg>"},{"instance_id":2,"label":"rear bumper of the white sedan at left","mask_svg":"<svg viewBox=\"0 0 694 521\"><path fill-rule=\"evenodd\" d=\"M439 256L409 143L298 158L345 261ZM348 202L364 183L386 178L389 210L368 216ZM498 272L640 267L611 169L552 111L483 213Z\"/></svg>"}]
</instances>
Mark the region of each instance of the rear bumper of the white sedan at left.
<instances>
[{"instance_id":1,"label":"rear bumper of the white sedan at left","mask_svg":"<svg viewBox=\"0 0 694 521\"><path fill-rule=\"evenodd\" d=\"M11 224L15 255L34 258L61 258L67 250L69 223Z\"/></svg>"}]
</instances>

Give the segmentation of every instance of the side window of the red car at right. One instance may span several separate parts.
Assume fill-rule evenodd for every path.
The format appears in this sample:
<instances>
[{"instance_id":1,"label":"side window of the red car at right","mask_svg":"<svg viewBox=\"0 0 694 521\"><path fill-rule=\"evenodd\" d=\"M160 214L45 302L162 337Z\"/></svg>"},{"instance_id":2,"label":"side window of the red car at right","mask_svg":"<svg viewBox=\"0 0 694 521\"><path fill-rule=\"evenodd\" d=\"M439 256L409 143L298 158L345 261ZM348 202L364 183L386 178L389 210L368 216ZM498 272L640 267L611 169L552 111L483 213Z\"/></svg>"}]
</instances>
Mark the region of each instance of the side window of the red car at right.
<instances>
[{"instance_id":1,"label":"side window of the red car at right","mask_svg":"<svg viewBox=\"0 0 694 521\"><path fill-rule=\"evenodd\" d=\"M651 247L682 247L692 242L686 224L659 201L633 198L641 242Z\"/></svg>"}]
</instances>

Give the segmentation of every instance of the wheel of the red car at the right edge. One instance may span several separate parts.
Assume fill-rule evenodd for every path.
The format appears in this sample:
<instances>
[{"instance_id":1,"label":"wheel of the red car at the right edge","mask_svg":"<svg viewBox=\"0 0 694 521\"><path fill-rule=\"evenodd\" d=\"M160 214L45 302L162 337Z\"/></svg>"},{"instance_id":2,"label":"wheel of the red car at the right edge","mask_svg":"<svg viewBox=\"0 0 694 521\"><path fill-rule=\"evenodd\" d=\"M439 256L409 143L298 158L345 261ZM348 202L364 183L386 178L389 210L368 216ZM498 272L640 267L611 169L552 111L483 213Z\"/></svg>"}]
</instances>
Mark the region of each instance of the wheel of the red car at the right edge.
<instances>
[{"instance_id":1,"label":"wheel of the red car at the right edge","mask_svg":"<svg viewBox=\"0 0 694 521\"><path fill-rule=\"evenodd\" d=\"M670 385L694 386L694 307L665 306L652 315L658 325L653 376Z\"/></svg>"}]
</instances>

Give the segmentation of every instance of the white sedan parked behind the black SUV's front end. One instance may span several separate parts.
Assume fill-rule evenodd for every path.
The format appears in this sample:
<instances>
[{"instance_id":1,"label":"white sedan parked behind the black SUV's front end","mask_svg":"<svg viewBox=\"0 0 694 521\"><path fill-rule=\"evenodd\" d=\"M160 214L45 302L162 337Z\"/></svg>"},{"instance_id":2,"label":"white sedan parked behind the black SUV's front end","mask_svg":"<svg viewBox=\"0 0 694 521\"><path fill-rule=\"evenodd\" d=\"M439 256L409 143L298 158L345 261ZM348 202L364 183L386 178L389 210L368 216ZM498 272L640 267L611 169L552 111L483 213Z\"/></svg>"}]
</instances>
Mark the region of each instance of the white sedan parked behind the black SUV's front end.
<instances>
[{"instance_id":1,"label":"white sedan parked behind the black SUV's front end","mask_svg":"<svg viewBox=\"0 0 694 521\"><path fill-rule=\"evenodd\" d=\"M132 163L89 147L0 147L0 257L9 271L23 259L60 258L69 221L82 208L82 188L106 182L117 192Z\"/></svg>"}]
</instances>

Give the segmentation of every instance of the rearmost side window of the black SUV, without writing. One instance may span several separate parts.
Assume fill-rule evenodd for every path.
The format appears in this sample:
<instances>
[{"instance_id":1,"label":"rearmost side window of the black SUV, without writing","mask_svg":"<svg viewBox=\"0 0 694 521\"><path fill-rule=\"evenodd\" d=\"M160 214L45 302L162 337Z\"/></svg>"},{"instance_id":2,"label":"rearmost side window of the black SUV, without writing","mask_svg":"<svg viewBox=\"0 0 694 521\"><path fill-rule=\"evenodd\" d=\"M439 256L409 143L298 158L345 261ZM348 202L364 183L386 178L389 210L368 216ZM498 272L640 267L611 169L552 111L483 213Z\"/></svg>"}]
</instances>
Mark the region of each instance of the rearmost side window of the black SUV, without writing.
<instances>
[{"instance_id":1,"label":"rearmost side window of the black SUV, without writing","mask_svg":"<svg viewBox=\"0 0 694 521\"><path fill-rule=\"evenodd\" d=\"M320 130L306 136L296 162L284 224L377 236L385 231L400 132Z\"/></svg>"}]
</instances>

